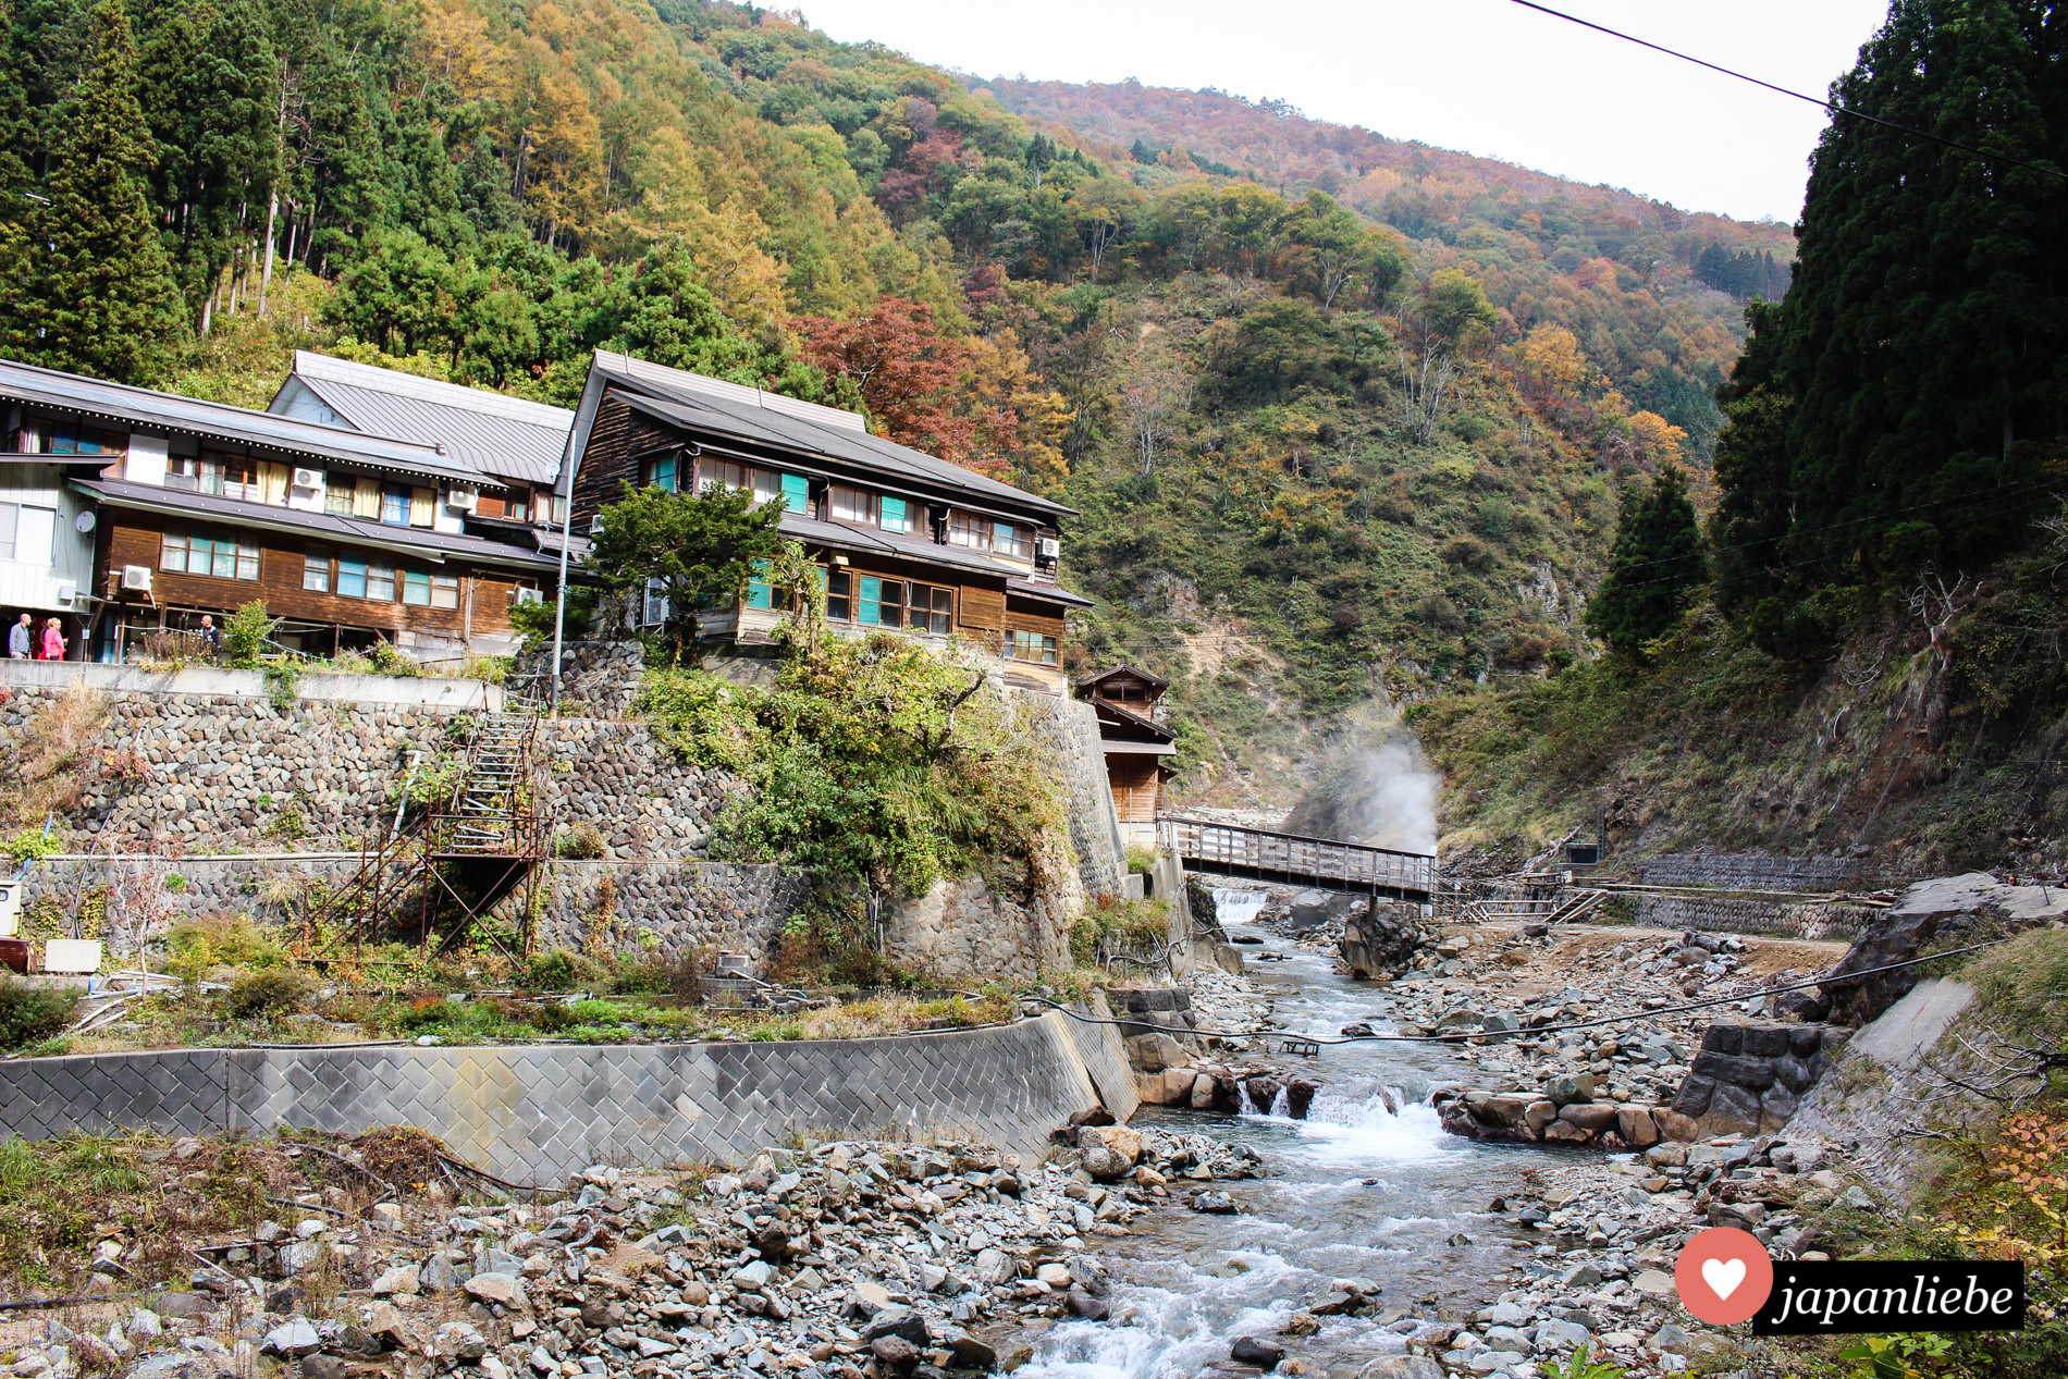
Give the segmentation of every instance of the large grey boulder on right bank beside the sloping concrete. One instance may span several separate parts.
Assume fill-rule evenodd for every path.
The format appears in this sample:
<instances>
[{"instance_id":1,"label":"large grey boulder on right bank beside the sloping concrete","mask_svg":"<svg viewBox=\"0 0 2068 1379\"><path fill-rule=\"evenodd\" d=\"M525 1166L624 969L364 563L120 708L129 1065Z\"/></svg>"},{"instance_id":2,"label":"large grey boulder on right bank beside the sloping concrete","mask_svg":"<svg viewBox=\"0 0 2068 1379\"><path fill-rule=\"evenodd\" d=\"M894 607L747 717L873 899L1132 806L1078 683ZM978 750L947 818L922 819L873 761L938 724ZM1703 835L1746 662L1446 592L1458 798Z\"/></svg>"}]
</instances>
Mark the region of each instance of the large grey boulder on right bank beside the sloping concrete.
<instances>
[{"instance_id":1,"label":"large grey boulder on right bank beside the sloping concrete","mask_svg":"<svg viewBox=\"0 0 2068 1379\"><path fill-rule=\"evenodd\" d=\"M1832 968L1822 992L1830 1019L1863 1025L1917 986L1917 968L1847 976L1898 963L1934 949L1960 947L1991 932L2016 932L2068 916L2060 887L2004 885L1987 872L1919 881L1874 920Z\"/></svg>"}]
</instances>

